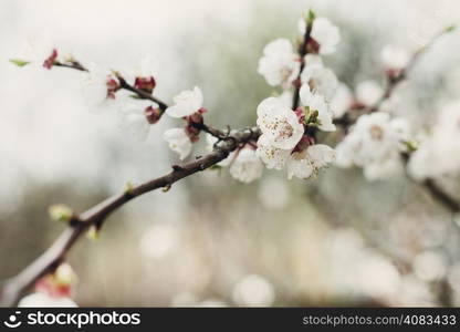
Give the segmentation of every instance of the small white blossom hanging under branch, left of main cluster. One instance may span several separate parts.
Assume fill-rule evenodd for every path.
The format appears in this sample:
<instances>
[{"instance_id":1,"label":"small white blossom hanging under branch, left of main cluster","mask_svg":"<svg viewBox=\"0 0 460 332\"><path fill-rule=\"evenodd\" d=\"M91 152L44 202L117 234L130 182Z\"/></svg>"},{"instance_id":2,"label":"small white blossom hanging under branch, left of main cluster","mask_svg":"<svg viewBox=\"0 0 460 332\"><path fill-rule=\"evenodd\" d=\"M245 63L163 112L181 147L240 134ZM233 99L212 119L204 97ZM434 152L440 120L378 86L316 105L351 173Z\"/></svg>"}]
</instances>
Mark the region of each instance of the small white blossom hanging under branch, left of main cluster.
<instances>
[{"instance_id":1,"label":"small white blossom hanging under branch, left of main cluster","mask_svg":"<svg viewBox=\"0 0 460 332\"><path fill-rule=\"evenodd\" d=\"M230 174L233 178L249 184L262 176L263 165L253 148L244 147L237 154L230 166Z\"/></svg>"}]
</instances>

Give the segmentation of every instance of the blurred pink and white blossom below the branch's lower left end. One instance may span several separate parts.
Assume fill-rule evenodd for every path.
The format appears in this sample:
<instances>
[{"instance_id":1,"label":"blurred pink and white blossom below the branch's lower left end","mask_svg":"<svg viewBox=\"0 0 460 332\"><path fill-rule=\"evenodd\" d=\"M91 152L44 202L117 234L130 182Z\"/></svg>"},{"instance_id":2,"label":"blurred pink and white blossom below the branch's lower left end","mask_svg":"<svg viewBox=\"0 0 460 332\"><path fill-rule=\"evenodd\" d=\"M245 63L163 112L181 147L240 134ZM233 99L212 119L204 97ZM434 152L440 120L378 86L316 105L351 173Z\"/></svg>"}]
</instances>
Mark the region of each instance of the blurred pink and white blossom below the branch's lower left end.
<instances>
[{"instance_id":1,"label":"blurred pink and white blossom below the branch's lower left end","mask_svg":"<svg viewBox=\"0 0 460 332\"><path fill-rule=\"evenodd\" d=\"M35 283L35 292L24 297L18 307L25 308L74 308L79 307L72 299L72 288L76 282L72 267L62 263L51 274Z\"/></svg>"}]
</instances>

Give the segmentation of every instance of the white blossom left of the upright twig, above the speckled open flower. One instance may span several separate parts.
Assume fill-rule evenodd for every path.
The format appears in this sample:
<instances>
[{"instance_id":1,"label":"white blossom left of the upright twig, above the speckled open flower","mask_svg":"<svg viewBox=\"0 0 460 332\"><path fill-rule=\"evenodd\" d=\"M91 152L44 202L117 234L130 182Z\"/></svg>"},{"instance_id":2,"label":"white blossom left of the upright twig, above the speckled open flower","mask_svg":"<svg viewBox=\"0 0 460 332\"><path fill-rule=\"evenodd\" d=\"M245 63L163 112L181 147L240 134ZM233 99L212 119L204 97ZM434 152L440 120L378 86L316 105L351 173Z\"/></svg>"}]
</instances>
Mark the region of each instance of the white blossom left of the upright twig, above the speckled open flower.
<instances>
[{"instance_id":1,"label":"white blossom left of the upright twig, above the speckled open flower","mask_svg":"<svg viewBox=\"0 0 460 332\"><path fill-rule=\"evenodd\" d=\"M276 39L263 49L258 72L268 84L289 87L297 76L300 68L299 56L291 42L286 39Z\"/></svg>"}]
</instances>

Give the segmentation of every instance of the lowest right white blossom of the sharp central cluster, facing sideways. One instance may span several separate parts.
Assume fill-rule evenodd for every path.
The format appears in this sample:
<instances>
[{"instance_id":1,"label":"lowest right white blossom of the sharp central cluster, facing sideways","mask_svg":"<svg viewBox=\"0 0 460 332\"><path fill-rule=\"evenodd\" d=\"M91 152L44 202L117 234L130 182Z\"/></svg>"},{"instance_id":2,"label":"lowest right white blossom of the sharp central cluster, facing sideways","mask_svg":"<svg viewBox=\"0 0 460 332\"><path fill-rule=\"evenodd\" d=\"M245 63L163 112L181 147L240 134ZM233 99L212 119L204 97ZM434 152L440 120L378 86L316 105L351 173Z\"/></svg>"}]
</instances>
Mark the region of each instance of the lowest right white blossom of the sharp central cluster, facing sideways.
<instances>
[{"instance_id":1,"label":"lowest right white blossom of the sharp central cluster, facing sideways","mask_svg":"<svg viewBox=\"0 0 460 332\"><path fill-rule=\"evenodd\" d=\"M320 168L335 159L335 151L324 144L311 145L301 152L294 152L288 159L288 178L296 176L306 179L316 175Z\"/></svg>"}]
</instances>

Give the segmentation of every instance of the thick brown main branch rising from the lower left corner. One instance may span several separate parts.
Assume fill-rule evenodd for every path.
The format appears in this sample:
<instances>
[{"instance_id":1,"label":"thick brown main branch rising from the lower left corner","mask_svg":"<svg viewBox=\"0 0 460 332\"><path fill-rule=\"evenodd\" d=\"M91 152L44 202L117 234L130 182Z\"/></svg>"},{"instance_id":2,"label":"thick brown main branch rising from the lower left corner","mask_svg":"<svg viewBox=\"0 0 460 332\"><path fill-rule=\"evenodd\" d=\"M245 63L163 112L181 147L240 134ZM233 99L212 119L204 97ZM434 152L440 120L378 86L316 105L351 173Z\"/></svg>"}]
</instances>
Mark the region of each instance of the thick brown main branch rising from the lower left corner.
<instances>
[{"instance_id":1,"label":"thick brown main branch rising from the lower left corner","mask_svg":"<svg viewBox=\"0 0 460 332\"><path fill-rule=\"evenodd\" d=\"M65 259L67 252L90 226L96 225L101 227L112 212L135 197L158 188L169 188L179 179L218 164L234 151L238 145L257 139L259 136L260 131L258 127L232 131L215 146L212 153L182 166L175 166L169 174L129 188L129 190L102 201L80 216L75 216L74 219L79 220L79 222L70 222L67 228L42 256L36 258L22 272L4 282L0 297L0 307L15 305L36 280L52 272Z\"/></svg>"}]
</instances>

